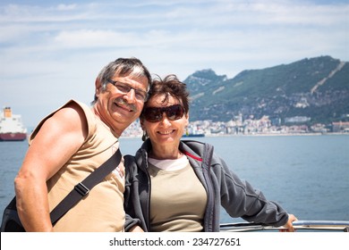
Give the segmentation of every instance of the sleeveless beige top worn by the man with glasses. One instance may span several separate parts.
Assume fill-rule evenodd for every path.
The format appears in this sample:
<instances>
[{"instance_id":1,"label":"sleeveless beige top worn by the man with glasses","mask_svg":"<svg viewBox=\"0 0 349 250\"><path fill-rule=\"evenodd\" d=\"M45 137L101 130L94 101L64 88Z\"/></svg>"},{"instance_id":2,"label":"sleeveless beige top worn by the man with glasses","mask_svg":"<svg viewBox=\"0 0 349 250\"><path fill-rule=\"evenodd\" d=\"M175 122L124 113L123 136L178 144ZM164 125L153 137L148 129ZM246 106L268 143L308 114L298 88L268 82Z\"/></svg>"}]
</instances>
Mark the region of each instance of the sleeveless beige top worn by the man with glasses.
<instances>
[{"instance_id":1,"label":"sleeveless beige top worn by the man with glasses","mask_svg":"<svg viewBox=\"0 0 349 250\"><path fill-rule=\"evenodd\" d=\"M88 137L79 151L73 154L72 158L47 181L50 211L64 199L64 196L77 183L109 159L119 147L118 138L105 123L98 119L89 106L74 100L67 104L70 102L79 104L85 112L89 129ZM38 124L30 136L30 142L35 138L41 124L55 112L52 112ZM124 166L122 159L115 171L93 187L88 196L83 197L55 224L54 230L67 232L123 231L125 220L123 191Z\"/></svg>"}]
</instances>

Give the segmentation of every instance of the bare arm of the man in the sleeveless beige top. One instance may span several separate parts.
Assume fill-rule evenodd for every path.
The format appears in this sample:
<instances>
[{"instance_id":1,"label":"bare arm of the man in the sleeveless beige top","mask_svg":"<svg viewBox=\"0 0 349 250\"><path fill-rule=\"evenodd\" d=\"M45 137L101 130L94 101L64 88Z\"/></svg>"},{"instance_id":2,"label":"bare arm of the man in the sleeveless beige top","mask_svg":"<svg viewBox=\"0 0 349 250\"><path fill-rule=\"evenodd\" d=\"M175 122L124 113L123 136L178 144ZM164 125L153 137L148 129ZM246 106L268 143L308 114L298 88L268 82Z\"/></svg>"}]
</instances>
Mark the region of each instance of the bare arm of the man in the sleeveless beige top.
<instances>
[{"instance_id":1,"label":"bare arm of the man in the sleeveless beige top","mask_svg":"<svg viewBox=\"0 0 349 250\"><path fill-rule=\"evenodd\" d=\"M87 130L86 117L78 104L55 112L39 129L14 179L17 209L26 231L53 230L47 179L81 147Z\"/></svg>"}]
</instances>

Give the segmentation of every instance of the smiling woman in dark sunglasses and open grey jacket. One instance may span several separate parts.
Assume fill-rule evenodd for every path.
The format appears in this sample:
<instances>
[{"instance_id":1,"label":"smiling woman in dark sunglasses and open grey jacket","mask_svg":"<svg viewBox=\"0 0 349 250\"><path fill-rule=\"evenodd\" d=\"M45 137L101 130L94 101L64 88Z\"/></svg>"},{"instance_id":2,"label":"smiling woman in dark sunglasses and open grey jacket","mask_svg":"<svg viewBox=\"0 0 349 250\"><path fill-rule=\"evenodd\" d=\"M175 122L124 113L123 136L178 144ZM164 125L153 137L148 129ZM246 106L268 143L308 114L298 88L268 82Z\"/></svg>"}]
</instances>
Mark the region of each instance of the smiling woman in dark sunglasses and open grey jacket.
<instances>
[{"instance_id":1,"label":"smiling woman in dark sunglasses and open grey jacket","mask_svg":"<svg viewBox=\"0 0 349 250\"><path fill-rule=\"evenodd\" d=\"M153 80L140 114L145 142L125 156L125 230L219 231L222 205L232 217L294 231L294 215L239 179L212 146L181 141L188 96L174 75Z\"/></svg>"}]
</instances>

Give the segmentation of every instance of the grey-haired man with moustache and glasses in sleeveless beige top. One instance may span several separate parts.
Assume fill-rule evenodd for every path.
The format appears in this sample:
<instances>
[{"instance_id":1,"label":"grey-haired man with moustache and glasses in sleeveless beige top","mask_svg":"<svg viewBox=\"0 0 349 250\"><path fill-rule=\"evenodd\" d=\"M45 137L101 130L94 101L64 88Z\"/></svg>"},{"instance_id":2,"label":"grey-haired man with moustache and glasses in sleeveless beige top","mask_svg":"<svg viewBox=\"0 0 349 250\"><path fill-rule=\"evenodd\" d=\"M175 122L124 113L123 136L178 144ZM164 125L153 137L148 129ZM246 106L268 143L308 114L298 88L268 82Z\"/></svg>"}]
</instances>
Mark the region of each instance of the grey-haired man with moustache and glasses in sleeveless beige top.
<instances>
[{"instance_id":1,"label":"grey-haired man with moustache and glasses in sleeveless beige top","mask_svg":"<svg viewBox=\"0 0 349 250\"><path fill-rule=\"evenodd\" d=\"M151 78L136 58L119 58L99 72L92 107L71 100L30 136L14 179L26 231L123 231L123 161L53 226L49 212L115 153L147 99Z\"/></svg>"}]
</instances>

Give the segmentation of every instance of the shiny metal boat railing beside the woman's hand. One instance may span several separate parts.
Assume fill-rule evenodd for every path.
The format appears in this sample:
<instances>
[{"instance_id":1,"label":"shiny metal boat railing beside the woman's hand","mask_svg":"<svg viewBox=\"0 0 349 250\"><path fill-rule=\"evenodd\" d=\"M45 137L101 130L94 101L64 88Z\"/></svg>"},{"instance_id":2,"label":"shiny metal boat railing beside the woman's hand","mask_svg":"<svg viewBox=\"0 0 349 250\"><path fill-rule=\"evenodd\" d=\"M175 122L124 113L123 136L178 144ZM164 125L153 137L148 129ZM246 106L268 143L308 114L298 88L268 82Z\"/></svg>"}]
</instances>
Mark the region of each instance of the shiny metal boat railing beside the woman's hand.
<instances>
[{"instance_id":1,"label":"shiny metal boat railing beside the woman's hand","mask_svg":"<svg viewBox=\"0 0 349 250\"><path fill-rule=\"evenodd\" d=\"M349 232L349 221L294 221L296 230L336 230ZM284 227L272 227L262 224L242 222L242 223L224 223L220 225L221 232L247 232L262 230L279 230Z\"/></svg>"}]
</instances>

